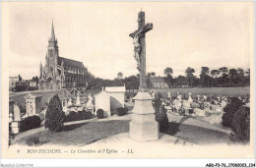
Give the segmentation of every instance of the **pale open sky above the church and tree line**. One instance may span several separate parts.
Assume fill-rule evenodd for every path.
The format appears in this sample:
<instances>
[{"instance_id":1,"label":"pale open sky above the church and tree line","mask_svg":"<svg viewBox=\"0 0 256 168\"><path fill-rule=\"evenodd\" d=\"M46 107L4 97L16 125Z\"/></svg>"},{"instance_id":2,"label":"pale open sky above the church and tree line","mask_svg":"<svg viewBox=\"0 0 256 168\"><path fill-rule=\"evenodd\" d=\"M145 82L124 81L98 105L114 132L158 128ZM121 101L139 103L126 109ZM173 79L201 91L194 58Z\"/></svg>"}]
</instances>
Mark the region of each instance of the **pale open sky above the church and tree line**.
<instances>
[{"instance_id":1,"label":"pale open sky above the church and tree line","mask_svg":"<svg viewBox=\"0 0 256 168\"><path fill-rule=\"evenodd\" d=\"M139 11L153 29L146 34L147 72L199 75L210 70L250 67L251 2L8 2L9 76L30 80L44 66L53 20L61 57L82 61L96 77L138 74L129 33Z\"/></svg>"}]
</instances>

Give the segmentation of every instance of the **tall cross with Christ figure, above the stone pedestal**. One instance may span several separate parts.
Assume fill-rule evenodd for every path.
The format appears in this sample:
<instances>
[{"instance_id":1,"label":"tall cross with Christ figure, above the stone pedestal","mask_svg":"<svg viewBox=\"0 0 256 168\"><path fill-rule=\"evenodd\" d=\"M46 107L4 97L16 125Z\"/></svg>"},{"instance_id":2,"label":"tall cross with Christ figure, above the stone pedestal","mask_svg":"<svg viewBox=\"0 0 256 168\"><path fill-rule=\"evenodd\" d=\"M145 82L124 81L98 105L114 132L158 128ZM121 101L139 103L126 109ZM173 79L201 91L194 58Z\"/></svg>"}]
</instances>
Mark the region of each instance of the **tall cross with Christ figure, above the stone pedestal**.
<instances>
[{"instance_id":1,"label":"tall cross with Christ figure, above the stone pedestal","mask_svg":"<svg viewBox=\"0 0 256 168\"><path fill-rule=\"evenodd\" d=\"M138 29L130 33L134 44L134 58L137 61L137 69L140 72L140 88L139 90L147 89L146 79L146 32L153 28L153 24L145 25L145 12L138 13Z\"/></svg>"}]
</instances>

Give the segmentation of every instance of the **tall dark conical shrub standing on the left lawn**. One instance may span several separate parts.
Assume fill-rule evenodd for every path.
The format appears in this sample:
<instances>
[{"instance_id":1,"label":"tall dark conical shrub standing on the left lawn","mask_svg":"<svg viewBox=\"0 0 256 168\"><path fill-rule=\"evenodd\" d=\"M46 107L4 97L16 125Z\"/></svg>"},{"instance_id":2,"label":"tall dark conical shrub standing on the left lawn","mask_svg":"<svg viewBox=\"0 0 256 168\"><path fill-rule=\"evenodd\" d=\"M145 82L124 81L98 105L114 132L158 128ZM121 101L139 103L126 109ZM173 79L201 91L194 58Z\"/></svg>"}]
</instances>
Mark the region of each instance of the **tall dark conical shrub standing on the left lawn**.
<instances>
[{"instance_id":1,"label":"tall dark conical shrub standing on the left lawn","mask_svg":"<svg viewBox=\"0 0 256 168\"><path fill-rule=\"evenodd\" d=\"M58 94L53 95L45 114L45 128L49 128L51 132L59 132L63 126L65 113L62 111L62 104Z\"/></svg>"}]
</instances>

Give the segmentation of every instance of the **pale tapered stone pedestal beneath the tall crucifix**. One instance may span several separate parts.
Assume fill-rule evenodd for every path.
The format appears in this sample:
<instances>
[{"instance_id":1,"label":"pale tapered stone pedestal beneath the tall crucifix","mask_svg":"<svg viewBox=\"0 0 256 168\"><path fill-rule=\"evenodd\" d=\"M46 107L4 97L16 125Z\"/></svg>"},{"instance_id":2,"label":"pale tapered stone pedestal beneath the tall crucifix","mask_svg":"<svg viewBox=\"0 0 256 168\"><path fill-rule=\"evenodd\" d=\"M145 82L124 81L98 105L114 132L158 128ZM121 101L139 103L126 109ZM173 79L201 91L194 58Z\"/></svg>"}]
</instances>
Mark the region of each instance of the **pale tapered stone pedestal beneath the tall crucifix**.
<instances>
[{"instance_id":1,"label":"pale tapered stone pedestal beneath the tall crucifix","mask_svg":"<svg viewBox=\"0 0 256 168\"><path fill-rule=\"evenodd\" d=\"M140 141L159 140L159 123L155 120L152 96L148 91L139 91L134 99L130 138Z\"/></svg>"}]
</instances>

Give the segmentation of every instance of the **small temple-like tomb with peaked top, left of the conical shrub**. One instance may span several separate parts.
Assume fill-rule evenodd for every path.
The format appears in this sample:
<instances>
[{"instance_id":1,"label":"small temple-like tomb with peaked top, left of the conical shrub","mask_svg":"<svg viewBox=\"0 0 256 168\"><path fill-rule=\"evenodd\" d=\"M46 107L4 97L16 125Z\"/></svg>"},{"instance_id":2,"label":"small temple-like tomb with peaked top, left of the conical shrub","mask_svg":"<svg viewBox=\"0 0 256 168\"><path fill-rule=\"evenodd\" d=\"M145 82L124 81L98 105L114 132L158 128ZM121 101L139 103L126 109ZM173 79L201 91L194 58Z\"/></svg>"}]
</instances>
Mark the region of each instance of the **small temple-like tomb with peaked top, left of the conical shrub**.
<instances>
[{"instance_id":1,"label":"small temple-like tomb with peaked top, left of the conical shrub","mask_svg":"<svg viewBox=\"0 0 256 168\"><path fill-rule=\"evenodd\" d=\"M40 95L32 95L31 92L25 96L26 116L38 115L41 112L41 97Z\"/></svg>"}]
</instances>

